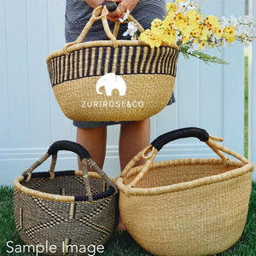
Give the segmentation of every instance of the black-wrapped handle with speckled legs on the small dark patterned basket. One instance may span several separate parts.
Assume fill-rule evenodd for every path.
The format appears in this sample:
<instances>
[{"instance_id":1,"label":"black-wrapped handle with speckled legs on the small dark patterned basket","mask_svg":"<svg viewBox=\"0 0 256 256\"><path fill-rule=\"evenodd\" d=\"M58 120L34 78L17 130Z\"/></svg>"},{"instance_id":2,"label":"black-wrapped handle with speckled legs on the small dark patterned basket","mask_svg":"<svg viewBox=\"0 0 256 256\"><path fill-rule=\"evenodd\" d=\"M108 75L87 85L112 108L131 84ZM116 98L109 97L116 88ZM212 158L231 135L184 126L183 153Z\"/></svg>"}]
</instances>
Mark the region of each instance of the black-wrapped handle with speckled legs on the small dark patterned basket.
<instances>
[{"instance_id":1,"label":"black-wrapped handle with speckled legs on the small dark patterned basket","mask_svg":"<svg viewBox=\"0 0 256 256\"><path fill-rule=\"evenodd\" d=\"M57 154L60 150L72 151L75 154L79 155L79 158L82 162L83 167L83 180L85 187L85 194L88 195L88 201L93 201L94 196L91 193L90 189L90 179L88 176L87 163L91 166L91 168L96 171L102 179L108 184L108 186L115 190L115 193L118 192L116 185L111 181L111 179L106 175L102 169L96 165L96 162L91 159L89 152L79 143L73 143L69 141L57 141L53 143L46 154L41 157L37 162L35 162L32 166L30 166L25 172L22 173L24 177L26 177L26 181L29 181L32 177L32 172L40 166L45 160L47 160L50 156L52 156L51 164L49 166L49 178L55 178L55 164L57 160Z\"/></svg>"}]
</instances>

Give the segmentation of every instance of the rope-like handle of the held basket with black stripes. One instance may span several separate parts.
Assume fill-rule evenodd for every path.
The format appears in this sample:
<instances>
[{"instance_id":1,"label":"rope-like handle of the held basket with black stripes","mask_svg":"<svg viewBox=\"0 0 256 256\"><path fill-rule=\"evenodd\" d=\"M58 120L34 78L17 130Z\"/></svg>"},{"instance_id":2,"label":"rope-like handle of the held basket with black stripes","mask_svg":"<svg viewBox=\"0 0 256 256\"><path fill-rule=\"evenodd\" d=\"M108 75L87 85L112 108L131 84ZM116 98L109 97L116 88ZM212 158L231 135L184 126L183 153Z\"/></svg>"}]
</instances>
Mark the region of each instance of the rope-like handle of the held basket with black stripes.
<instances>
[{"instance_id":1,"label":"rope-like handle of the held basket with black stripes","mask_svg":"<svg viewBox=\"0 0 256 256\"><path fill-rule=\"evenodd\" d=\"M77 38L73 42L65 44L63 46L63 51L68 55L73 50L70 47L72 47L74 44L81 44L84 41L84 38L86 37L87 33L89 32L90 27L94 24L96 20L102 20L104 31L106 32L108 38L111 40L113 47L118 47L118 41L116 38L119 32L120 22L119 21L115 22L113 32L111 32L108 26L108 19L107 19L108 11L113 11L112 1L103 2L102 5L94 9L90 17L90 20L84 26L83 31L79 35L79 38ZM135 24L137 24L137 28L139 32L144 32L143 26L141 26L141 24L136 19L134 19L132 15L129 14L128 19L130 21L133 21Z\"/></svg>"}]
</instances>

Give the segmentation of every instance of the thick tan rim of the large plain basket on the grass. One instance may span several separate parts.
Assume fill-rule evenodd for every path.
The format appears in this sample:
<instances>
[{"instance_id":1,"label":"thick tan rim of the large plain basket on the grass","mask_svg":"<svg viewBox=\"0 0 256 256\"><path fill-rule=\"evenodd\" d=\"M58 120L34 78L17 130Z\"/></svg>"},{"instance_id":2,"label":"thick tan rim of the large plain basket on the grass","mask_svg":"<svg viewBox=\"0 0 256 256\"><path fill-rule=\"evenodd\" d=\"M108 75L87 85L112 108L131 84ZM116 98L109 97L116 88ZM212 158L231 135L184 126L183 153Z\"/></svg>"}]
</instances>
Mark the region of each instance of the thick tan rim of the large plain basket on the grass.
<instances>
[{"instance_id":1,"label":"thick tan rim of the large plain basket on the grass","mask_svg":"<svg viewBox=\"0 0 256 256\"><path fill-rule=\"evenodd\" d=\"M185 159L176 159L176 160L165 160L154 162L153 168L164 167L164 166L182 166L182 165L224 165L223 160L218 158L205 158L205 159L195 159L195 158L185 158ZM123 183L124 177L119 176L116 179L116 184L120 191L124 192L126 195L162 195L166 193L179 192L188 189L195 189L205 185L210 185L212 183L221 183L231 178L240 177L247 174L248 172L253 172L254 166L253 163L248 162L247 164L241 163L239 160L229 160L230 166L238 166L238 168L219 173L216 175L201 177L189 182L175 183L172 185L142 189L142 188L131 188ZM137 172L141 169L142 166L133 167L134 172ZM150 172L150 170L148 172Z\"/></svg>"}]
</instances>

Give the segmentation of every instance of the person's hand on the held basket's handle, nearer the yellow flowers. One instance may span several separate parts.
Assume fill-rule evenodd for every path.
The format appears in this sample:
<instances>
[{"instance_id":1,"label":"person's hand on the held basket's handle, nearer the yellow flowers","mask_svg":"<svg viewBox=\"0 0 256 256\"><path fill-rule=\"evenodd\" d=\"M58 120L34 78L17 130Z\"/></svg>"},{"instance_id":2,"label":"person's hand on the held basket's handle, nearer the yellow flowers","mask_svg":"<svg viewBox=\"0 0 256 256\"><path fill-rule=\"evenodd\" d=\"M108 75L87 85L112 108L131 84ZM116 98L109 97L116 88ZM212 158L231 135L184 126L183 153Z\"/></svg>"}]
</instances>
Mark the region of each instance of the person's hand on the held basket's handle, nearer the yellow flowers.
<instances>
[{"instance_id":1,"label":"person's hand on the held basket's handle, nearer the yellow flowers","mask_svg":"<svg viewBox=\"0 0 256 256\"><path fill-rule=\"evenodd\" d=\"M138 1L139 0L115 0L115 2L118 4L118 8L113 12L108 13L108 20L112 22L119 21L119 19L124 17L124 13L127 9L129 9L131 12L136 7Z\"/></svg>"}]
</instances>

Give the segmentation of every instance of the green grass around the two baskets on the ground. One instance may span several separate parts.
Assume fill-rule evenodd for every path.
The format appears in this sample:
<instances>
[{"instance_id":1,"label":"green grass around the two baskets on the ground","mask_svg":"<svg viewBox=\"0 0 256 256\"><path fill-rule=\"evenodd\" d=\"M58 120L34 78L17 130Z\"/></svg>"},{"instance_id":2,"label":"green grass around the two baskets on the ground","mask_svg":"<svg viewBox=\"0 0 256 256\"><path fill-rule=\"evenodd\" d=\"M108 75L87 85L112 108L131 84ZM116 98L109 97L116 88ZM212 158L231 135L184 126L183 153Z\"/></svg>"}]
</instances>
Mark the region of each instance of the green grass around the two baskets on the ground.
<instances>
[{"instance_id":1,"label":"green grass around the two baskets on the ground","mask_svg":"<svg viewBox=\"0 0 256 256\"><path fill-rule=\"evenodd\" d=\"M7 241L14 241L15 245L22 245L20 236L15 229L13 215L13 189L0 187L0 255L34 255L29 253L6 253ZM247 215L247 224L241 239L228 251L218 255L223 256L254 256L256 255L256 184L253 183L252 195ZM102 256L148 256L151 255L138 246L127 232L115 232L105 247Z\"/></svg>"}]
</instances>

